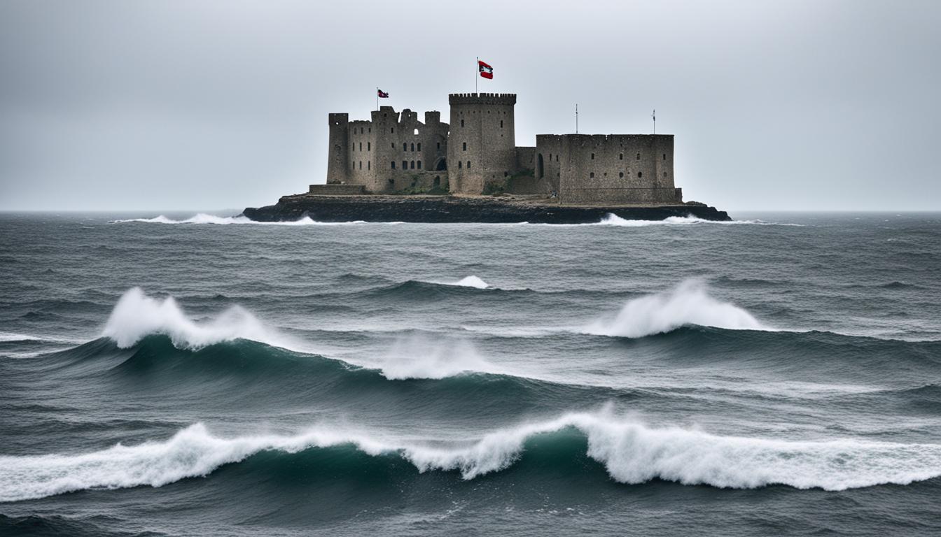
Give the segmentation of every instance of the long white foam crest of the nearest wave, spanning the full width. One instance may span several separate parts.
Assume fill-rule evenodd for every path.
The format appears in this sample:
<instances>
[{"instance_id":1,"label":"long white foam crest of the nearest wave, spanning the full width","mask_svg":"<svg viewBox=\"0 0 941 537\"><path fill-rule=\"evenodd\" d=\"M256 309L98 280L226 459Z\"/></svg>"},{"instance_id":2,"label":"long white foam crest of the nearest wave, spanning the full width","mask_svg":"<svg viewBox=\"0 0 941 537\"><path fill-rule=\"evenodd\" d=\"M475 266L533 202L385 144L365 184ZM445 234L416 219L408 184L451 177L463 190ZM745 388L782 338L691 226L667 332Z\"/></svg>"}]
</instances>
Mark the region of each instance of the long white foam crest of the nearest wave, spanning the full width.
<instances>
[{"instance_id":1,"label":"long white foam crest of the nearest wave, spanning the full width","mask_svg":"<svg viewBox=\"0 0 941 537\"><path fill-rule=\"evenodd\" d=\"M206 476L222 465L268 450L294 453L353 445L369 455L397 453L419 471L456 470L470 480L513 465L527 439L573 428L587 455L617 482L662 479L683 484L844 490L908 484L941 476L941 445L858 439L786 441L719 436L678 427L653 428L610 412L566 414L464 439L398 440L391 434L318 427L301 434L231 438L193 424L165 441L118 444L85 454L0 456L0 501L44 498L89 488L162 486Z\"/></svg>"}]
</instances>

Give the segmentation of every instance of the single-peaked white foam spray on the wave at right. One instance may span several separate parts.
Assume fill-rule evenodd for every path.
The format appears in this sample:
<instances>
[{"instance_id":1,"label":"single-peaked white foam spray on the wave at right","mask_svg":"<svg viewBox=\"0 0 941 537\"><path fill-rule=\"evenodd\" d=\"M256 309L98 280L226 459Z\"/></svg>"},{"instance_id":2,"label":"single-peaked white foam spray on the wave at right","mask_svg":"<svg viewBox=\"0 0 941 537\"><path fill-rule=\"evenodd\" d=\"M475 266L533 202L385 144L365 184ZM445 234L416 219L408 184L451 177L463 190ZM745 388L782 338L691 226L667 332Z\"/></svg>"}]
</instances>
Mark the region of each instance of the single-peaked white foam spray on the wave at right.
<instances>
[{"instance_id":1,"label":"single-peaked white foam spray on the wave at right","mask_svg":"<svg viewBox=\"0 0 941 537\"><path fill-rule=\"evenodd\" d=\"M751 313L710 296L699 280L682 282L673 290L628 301L611 319L601 319L581 331L598 336L643 338L698 324L736 330L773 330Z\"/></svg>"}]
</instances>

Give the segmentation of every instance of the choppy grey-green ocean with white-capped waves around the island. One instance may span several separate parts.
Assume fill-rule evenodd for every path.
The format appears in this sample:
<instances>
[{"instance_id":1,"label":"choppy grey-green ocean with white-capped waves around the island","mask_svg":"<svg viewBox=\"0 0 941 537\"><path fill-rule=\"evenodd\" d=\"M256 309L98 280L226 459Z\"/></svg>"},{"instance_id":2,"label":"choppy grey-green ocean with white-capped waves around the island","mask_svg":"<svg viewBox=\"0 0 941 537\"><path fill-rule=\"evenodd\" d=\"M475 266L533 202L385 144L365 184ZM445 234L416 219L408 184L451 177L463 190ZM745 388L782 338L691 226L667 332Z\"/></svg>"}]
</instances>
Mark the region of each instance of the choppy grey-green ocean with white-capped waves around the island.
<instances>
[{"instance_id":1,"label":"choppy grey-green ocean with white-capped waves around the island","mask_svg":"<svg viewBox=\"0 0 941 537\"><path fill-rule=\"evenodd\" d=\"M937 535L941 213L0 214L0 535Z\"/></svg>"}]
</instances>

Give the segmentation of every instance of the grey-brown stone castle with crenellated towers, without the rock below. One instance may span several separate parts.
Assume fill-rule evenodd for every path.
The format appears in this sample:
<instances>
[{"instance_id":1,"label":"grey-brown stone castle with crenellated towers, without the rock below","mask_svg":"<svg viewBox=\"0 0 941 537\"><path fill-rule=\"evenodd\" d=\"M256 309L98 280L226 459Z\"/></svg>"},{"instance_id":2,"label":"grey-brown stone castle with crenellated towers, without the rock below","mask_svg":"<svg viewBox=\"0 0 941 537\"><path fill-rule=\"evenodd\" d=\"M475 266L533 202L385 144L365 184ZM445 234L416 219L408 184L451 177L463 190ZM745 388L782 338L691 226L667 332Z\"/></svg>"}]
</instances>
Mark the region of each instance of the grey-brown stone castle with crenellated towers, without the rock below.
<instances>
[{"instance_id":1,"label":"grey-brown stone castle with crenellated towers, without the rock below","mask_svg":"<svg viewBox=\"0 0 941 537\"><path fill-rule=\"evenodd\" d=\"M371 120L330 114L327 184L311 194L493 192L557 197L564 204L682 203L672 134L537 134L518 147L512 93L453 93L439 112L391 106Z\"/></svg>"}]
</instances>

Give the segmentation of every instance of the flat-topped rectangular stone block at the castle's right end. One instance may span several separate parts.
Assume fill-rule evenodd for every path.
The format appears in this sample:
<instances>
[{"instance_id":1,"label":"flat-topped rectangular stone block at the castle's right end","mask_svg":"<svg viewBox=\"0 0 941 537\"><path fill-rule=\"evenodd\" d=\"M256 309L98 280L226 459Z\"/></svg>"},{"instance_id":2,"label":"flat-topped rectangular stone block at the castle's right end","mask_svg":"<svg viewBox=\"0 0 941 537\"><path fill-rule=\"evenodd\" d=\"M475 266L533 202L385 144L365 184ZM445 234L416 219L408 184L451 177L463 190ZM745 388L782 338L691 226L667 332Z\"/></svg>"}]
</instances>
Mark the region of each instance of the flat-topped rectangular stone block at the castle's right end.
<instances>
[{"instance_id":1,"label":"flat-topped rectangular stone block at the castle's right end","mask_svg":"<svg viewBox=\"0 0 941 537\"><path fill-rule=\"evenodd\" d=\"M537 142L542 138L537 136ZM677 201L672 134L565 134L560 139L562 202ZM554 158L553 154L553 161Z\"/></svg>"}]
</instances>

